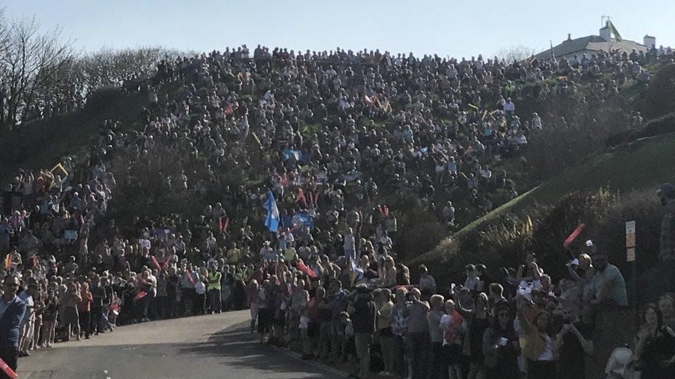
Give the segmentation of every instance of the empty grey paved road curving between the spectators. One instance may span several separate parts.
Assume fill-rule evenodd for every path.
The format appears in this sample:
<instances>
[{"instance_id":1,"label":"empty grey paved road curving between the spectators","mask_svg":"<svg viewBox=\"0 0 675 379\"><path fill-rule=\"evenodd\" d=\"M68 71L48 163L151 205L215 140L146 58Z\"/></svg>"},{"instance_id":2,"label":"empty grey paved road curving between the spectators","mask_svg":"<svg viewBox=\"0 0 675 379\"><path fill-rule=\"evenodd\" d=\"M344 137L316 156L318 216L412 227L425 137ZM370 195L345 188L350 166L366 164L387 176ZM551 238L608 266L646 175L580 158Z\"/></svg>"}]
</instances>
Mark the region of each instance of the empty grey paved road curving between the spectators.
<instances>
[{"instance_id":1,"label":"empty grey paved road curving between the spectators","mask_svg":"<svg viewBox=\"0 0 675 379\"><path fill-rule=\"evenodd\" d=\"M19 358L19 378L339 378L252 339L248 311L148 322Z\"/></svg>"}]
</instances>

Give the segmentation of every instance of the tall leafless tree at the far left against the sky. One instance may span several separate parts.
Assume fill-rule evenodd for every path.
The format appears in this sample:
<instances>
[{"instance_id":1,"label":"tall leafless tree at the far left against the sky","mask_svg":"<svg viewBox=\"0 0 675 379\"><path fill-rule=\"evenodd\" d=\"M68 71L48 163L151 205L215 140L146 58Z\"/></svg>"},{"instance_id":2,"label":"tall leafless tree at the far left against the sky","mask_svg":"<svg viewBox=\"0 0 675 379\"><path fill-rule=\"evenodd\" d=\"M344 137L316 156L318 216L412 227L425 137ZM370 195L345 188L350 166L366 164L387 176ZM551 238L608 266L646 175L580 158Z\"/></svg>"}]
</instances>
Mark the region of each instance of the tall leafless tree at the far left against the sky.
<instances>
[{"instance_id":1,"label":"tall leafless tree at the far left against the sky","mask_svg":"<svg viewBox=\"0 0 675 379\"><path fill-rule=\"evenodd\" d=\"M25 122L37 91L73 58L72 41L56 28L39 32L35 17L12 21L0 45L0 74L6 86L6 125Z\"/></svg>"}]
</instances>

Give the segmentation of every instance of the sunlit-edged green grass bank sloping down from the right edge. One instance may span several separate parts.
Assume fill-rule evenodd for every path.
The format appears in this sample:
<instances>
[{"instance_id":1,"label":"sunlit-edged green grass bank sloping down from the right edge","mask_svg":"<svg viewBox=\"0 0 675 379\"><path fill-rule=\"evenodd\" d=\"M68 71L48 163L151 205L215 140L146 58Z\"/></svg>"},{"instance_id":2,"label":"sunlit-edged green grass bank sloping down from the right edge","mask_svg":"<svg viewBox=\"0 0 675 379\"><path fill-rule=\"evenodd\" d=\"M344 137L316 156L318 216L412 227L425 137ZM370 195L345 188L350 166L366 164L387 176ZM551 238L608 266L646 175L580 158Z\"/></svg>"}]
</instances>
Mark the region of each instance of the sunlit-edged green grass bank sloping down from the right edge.
<instances>
[{"instance_id":1,"label":"sunlit-edged green grass bank sloping down from the right edge","mask_svg":"<svg viewBox=\"0 0 675 379\"><path fill-rule=\"evenodd\" d=\"M539 206L555 204L568 193L607 187L613 191L654 188L663 182L675 181L675 133L637 139L624 146L611 148L567 168L548 182L503 204L485 217L468 224L446 238L433 251L418 257L416 262L434 262L455 250L456 242L476 230L485 229L505 213L526 214Z\"/></svg>"}]
</instances>

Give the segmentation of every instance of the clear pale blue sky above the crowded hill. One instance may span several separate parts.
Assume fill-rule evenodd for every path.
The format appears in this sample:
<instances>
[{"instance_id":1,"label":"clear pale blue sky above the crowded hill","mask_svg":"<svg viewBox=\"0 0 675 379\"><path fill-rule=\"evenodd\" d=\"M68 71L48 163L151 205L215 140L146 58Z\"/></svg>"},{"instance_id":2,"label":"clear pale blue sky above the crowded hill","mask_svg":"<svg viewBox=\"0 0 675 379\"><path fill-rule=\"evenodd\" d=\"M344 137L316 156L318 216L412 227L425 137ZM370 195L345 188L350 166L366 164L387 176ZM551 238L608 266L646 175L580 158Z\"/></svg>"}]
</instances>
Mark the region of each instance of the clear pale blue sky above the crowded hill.
<instances>
[{"instance_id":1,"label":"clear pale blue sky above the crowded hill","mask_svg":"<svg viewBox=\"0 0 675 379\"><path fill-rule=\"evenodd\" d=\"M12 0L7 16L35 14L60 26L81 50L162 45L181 50L255 46L331 50L380 48L444 57L548 48L598 34L610 14L624 39L675 46L674 0ZM649 5L647 5L649 4Z\"/></svg>"}]
</instances>

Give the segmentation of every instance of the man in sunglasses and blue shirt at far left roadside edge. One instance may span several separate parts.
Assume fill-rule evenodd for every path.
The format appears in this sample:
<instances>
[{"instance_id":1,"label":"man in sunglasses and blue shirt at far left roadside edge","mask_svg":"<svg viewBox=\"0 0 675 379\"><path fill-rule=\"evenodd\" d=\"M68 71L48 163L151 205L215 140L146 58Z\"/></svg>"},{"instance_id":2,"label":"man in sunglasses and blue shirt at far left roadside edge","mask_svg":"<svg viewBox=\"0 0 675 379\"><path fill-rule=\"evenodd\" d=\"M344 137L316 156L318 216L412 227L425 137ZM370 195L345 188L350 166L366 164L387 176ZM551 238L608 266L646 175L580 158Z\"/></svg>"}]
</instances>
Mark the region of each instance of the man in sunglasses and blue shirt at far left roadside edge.
<instances>
[{"instance_id":1,"label":"man in sunglasses and blue shirt at far left roadside edge","mask_svg":"<svg viewBox=\"0 0 675 379\"><path fill-rule=\"evenodd\" d=\"M0 301L0 359L14 371L19 358L19 324L26 312L26 302L17 296L20 282L16 275L7 276Z\"/></svg>"}]
</instances>

